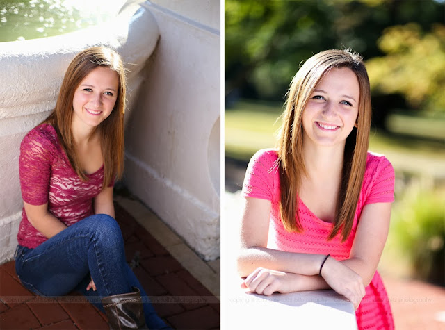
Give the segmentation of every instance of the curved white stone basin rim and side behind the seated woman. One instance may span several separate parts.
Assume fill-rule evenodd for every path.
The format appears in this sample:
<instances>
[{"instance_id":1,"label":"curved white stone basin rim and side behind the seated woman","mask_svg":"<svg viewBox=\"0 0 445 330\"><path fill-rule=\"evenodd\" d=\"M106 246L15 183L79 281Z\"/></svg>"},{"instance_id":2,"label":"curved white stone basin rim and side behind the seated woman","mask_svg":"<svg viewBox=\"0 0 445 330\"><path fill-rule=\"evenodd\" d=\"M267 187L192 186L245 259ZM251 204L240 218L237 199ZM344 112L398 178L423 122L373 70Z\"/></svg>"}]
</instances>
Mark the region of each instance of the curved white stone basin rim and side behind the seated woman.
<instances>
[{"instance_id":1,"label":"curved white stone basin rim and side behind the seated woman","mask_svg":"<svg viewBox=\"0 0 445 330\"><path fill-rule=\"evenodd\" d=\"M129 70L131 108L143 81L141 70L158 39L152 14L130 0L106 24L55 37L0 43L0 263L13 256L17 245L22 213L20 142L54 108L70 60L87 47L103 45L118 51Z\"/></svg>"}]
</instances>

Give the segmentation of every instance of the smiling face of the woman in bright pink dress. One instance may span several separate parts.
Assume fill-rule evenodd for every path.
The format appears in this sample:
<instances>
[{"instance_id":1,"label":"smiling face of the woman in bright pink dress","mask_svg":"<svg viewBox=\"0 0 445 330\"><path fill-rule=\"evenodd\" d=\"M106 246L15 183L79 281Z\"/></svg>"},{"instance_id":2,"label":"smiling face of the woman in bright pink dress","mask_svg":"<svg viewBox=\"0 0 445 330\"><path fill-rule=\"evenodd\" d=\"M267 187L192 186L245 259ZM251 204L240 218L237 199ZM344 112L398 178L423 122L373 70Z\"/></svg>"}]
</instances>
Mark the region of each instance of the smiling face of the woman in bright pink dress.
<instances>
[{"instance_id":1,"label":"smiling face of the woman in bright pink dress","mask_svg":"<svg viewBox=\"0 0 445 330\"><path fill-rule=\"evenodd\" d=\"M303 110L303 144L344 146L357 120L359 97L359 81L351 69L330 69Z\"/></svg>"}]
</instances>

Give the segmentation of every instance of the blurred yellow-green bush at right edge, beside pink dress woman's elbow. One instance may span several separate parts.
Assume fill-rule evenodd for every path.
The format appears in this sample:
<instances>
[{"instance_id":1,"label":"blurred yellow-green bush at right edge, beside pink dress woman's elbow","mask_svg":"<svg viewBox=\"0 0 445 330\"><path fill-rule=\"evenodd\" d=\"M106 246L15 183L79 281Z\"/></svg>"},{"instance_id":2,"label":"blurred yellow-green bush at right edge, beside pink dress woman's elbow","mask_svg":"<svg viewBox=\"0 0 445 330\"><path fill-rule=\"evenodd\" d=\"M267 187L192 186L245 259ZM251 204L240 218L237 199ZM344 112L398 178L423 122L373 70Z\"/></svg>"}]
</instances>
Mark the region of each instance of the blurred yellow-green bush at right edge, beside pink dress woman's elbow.
<instances>
[{"instance_id":1,"label":"blurred yellow-green bush at right edge, beside pink dress woman's elbow","mask_svg":"<svg viewBox=\"0 0 445 330\"><path fill-rule=\"evenodd\" d=\"M420 279L445 285L445 193L411 185L394 205L389 236Z\"/></svg>"}]
</instances>

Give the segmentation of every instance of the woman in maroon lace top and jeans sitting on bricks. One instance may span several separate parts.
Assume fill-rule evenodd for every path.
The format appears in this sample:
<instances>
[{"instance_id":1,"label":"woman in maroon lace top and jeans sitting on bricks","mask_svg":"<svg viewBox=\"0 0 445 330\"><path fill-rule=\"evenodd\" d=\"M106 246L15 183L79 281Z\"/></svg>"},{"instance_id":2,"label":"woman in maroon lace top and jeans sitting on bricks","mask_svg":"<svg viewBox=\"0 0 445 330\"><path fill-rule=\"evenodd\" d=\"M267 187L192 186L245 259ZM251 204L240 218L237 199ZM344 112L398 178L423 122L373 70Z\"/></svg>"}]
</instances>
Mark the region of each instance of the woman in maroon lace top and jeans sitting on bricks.
<instances>
[{"instance_id":1,"label":"woman in maroon lace top and jeans sitting on bricks","mask_svg":"<svg viewBox=\"0 0 445 330\"><path fill-rule=\"evenodd\" d=\"M24 208L15 267L37 295L79 290L99 297L112 329L145 323L163 329L125 261L114 219L124 110L125 71L118 53L105 47L81 51L67 68L53 113L20 147Z\"/></svg>"}]
</instances>

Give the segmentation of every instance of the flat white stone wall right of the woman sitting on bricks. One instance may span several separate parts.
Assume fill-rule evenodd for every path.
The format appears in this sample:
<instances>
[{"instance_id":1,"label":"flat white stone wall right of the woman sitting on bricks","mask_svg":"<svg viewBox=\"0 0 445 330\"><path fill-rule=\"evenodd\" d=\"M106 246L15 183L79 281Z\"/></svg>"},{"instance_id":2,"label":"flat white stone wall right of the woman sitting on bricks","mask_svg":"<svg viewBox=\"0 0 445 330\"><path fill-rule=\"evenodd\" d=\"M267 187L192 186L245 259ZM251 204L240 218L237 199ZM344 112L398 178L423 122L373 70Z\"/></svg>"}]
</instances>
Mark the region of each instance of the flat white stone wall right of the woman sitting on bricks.
<instances>
[{"instance_id":1,"label":"flat white stone wall right of the woman sitting on bricks","mask_svg":"<svg viewBox=\"0 0 445 330\"><path fill-rule=\"evenodd\" d=\"M220 256L220 1L143 6L161 38L129 116L125 183L212 260Z\"/></svg>"}]
</instances>

